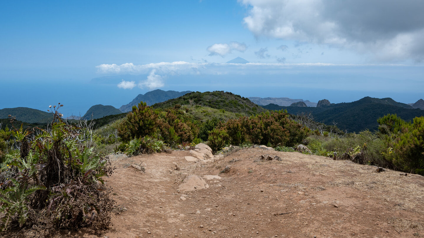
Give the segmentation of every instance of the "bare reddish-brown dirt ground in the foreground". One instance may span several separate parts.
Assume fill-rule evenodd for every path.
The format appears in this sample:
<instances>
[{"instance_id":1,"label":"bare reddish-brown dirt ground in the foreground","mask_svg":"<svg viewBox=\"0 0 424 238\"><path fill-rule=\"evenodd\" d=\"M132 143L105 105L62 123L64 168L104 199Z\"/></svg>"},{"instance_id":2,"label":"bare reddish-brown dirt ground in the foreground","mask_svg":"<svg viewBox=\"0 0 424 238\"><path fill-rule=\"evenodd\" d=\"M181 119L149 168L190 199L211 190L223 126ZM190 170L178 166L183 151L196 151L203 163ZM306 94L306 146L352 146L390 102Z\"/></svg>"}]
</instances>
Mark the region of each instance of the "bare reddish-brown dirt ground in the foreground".
<instances>
[{"instance_id":1,"label":"bare reddish-brown dirt ground in the foreground","mask_svg":"<svg viewBox=\"0 0 424 238\"><path fill-rule=\"evenodd\" d=\"M265 154L282 161L259 160ZM422 176L376 173L373 166L350 161L259 148L210 163L186 162L187 155L175 151L113 162L117 169L107 183L117 206L127 210L114 215L112 229L99 237L424 236ZM141 162L145 173L127 167ZM227 165L229 172L220 174ZM178 192L190 174L223 180ZM87 231L71 235L97 237Z\"/></svg>"}]
</instances>

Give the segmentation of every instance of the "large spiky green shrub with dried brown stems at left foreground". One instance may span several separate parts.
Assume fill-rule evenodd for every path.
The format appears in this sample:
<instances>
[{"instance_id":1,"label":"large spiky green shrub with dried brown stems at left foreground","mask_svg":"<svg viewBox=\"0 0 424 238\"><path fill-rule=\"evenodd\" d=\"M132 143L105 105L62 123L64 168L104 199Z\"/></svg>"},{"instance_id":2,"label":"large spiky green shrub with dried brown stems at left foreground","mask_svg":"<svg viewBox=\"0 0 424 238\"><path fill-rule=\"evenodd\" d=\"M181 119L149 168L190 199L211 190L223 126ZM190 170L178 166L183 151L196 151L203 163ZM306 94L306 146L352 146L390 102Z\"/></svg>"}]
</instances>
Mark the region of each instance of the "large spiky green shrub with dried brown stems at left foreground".
<instances>
[{"instance_id":1,"label":"large spiky green shrub with dried brown stems at left foreground","mask_svg":"<svg viewBox=\"0 0 424 238\"><path fill-rule=\"evenodd\" d=\"M36 224L50 236L61 227L109 226L113 200L102 177L112 169L81 144L85 129L65 124L53 108L50 129L12 131L20 155L0 174L1 230Z\"/></svg>"}]
</instances>

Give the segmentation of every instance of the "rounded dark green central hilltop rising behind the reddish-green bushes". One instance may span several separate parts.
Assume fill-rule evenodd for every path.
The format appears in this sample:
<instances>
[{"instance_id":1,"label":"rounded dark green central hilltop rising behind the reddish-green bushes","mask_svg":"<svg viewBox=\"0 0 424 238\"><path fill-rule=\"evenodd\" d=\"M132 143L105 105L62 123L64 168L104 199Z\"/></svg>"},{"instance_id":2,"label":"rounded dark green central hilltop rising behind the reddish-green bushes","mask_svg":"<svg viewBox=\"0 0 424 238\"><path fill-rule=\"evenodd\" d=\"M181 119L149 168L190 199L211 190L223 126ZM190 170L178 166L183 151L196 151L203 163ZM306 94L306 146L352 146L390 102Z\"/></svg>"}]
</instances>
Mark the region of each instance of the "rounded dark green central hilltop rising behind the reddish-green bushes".
<instances>
[{"instance_id":1,"label":"rounded dark green central hilltop rising behind the reddish-green bushes","mask_svg":"<svg viewBox=\"0 0 424 238\"><path fill-rule=\"evenodd\" d=\"M184 96L154 104L153 108L172 108L175 105L200 105L245 116L251 116L266 109L254 104L248 98L224 91L191 92Z\"/></svg>"}]
</instances>

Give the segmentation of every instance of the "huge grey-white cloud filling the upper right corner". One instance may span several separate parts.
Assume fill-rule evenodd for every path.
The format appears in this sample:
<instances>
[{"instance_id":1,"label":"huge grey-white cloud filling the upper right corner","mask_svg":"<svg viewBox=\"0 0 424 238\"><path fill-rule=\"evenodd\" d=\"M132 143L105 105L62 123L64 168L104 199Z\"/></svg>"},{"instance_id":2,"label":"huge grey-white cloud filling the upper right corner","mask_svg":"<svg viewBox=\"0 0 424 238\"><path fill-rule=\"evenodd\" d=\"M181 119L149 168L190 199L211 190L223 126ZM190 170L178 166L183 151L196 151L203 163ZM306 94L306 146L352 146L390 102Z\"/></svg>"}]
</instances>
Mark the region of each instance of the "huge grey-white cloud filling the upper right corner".
<instances>
[{"instance_id":1,"label":"huge grey-white cloud filling the upper right corner","mask_svg":"<svg viewBox=\"0 0 424 238\"><path fill-rule=\"evenodd\" d=\"M347 47L378 60L424 58L424 1L240 0L257 37Z\"/></svg>"}]
</instances>

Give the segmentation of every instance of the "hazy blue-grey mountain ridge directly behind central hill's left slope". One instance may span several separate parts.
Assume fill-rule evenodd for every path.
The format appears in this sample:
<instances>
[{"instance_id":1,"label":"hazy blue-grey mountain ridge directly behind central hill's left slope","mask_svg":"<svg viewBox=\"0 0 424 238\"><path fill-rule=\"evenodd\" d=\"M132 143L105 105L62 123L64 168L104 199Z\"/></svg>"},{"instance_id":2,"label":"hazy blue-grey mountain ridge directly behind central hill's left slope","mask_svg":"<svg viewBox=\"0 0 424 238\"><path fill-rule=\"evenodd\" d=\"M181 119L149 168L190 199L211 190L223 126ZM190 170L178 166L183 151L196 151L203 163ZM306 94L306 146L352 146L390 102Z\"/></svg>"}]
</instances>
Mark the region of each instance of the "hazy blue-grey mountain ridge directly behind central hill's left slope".
<instances>
[{"instance_id":1,"label":"hazy blue-grey mountain ridge directly behind central hill's left slope","mask_svg":"<svg viewBox=\"0 0 424 238\"><path fill-rule=\"evenodd\" d=\"M190 93L191 91L182 91L182 92L178 92L178 91L163 91L160 89L156 89L150 92L143 94L138 94L137 97L134 98L134 100L132 100L130 103L126 104L126 105L122 105L119 110L121 112L129 112L132 110L132 106L134 105L138 105L139 102L143 101L145 102L147 105L153 105L155 103L158 102L165 102L166 100L170 100L170 99L174 99L177 97L181 97L187 93Z\"/></svg>"}]
</instances>

